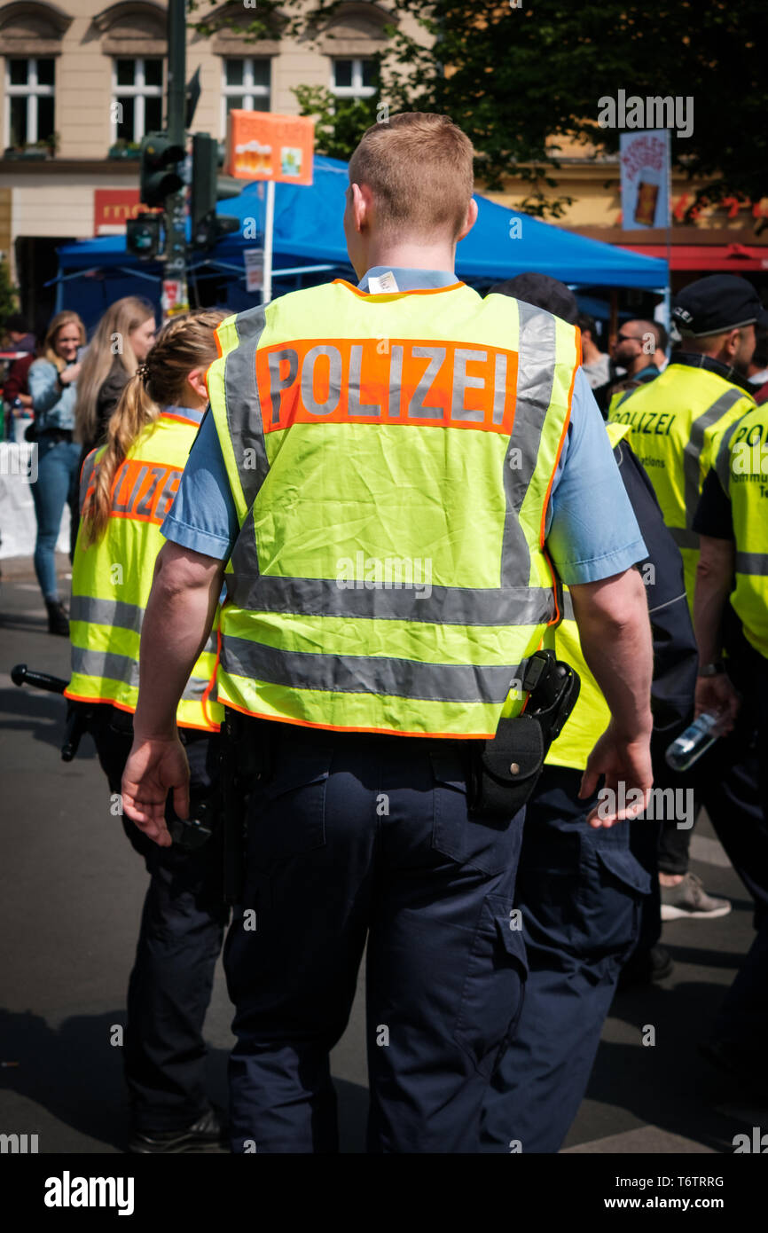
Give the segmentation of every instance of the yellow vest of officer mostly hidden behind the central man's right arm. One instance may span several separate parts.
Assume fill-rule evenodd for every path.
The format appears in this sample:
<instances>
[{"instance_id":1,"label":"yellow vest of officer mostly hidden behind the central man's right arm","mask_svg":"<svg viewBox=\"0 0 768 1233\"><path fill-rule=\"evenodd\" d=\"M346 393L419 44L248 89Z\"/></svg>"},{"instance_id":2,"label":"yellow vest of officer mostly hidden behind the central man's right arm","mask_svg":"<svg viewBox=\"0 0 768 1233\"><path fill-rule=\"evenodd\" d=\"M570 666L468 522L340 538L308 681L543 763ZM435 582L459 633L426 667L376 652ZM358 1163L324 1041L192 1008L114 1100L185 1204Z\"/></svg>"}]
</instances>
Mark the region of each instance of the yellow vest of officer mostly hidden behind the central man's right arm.
<instances>
[{"instance_id":1,"label":"yellow vest of officer mostly hidden behind the central man's right arm","mask_svg":"<svg viewBox=\"0 0 768 1233\"><path fill-rule=\"evenodd\" d=\"M630 432L629 424L605 427L611 449L615 449ZM567 587L563 587L563 619L555 631L555 652L558 660L565 660L576 670L581 689L576 707L568 715L568 723L557 740L550 745L545 762L547 766L583 771L594 742L610 723L610 710L603 690L587 667Z\"/></svg>"}]
</instances>

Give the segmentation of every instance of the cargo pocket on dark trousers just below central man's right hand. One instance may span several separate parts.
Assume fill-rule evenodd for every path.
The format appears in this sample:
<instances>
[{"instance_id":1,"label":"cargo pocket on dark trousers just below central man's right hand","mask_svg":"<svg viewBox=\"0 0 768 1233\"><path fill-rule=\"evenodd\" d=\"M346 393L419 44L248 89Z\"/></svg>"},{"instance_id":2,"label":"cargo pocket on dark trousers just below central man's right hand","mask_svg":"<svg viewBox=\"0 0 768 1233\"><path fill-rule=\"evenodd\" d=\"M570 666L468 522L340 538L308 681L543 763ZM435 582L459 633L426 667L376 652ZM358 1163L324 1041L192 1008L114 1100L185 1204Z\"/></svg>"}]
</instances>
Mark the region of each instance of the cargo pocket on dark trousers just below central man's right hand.
<instances>
[{"instance_id":1,"label":"cargo pocket on dark trousers just below central man's right hand","mask_svg":"<svg viewBox=\"0 0 768 1233\"><path fill-rule=\"evenodd\" d=\"M599 831L582 835L582 842L579 928L584 957L599 978L629 958L637 940L640 904L651 891L651 875L629 846L600 842Z\"/></svg>"}]
</instances>

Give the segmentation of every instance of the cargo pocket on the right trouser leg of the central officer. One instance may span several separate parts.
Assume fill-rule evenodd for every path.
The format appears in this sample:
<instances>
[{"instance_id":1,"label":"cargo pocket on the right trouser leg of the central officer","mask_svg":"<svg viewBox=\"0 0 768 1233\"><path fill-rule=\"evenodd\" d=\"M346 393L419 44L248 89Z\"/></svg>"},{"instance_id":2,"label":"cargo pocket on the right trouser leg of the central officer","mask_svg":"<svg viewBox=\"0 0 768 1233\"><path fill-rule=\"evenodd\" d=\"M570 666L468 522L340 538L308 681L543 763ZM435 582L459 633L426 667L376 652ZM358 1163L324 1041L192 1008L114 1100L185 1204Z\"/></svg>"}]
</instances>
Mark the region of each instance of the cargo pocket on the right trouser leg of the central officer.
<instances>
[{"instance_id":1,"label":"cargo pocket on the right trouser leg of the central officer","mask_svg":"<svg viewBox=\"0 0 768 1233\"><path fill-rule=\"evenodd\" d=\"M491 1075L523 1007L525 943L505 895L486 895L461 994L455 1039Z\"/></svg>"}]
</instances>

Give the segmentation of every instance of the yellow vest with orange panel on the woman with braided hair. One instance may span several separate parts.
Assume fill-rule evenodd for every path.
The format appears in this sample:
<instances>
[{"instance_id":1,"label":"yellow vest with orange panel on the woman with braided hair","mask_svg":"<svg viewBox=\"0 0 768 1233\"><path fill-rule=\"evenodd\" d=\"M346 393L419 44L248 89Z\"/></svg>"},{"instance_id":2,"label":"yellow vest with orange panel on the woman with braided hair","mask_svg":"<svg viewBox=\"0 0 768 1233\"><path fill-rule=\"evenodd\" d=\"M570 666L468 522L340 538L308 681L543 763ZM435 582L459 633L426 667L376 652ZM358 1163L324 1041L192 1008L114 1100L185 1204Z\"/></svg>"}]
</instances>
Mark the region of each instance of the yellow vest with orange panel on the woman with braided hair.
<instances>
[{"instance_id":1,"label":"yellow vest with orange panel on the woman with braided hair","mask_svg":"<svg viewBox=\"0 0 768 1233\"><path fill-rule=\"evenodd\" d=\"M115 476L105 534L89 547L78 535L71 566L68 698L136 710L142 621L155 557L165 543L160 524L179 488L201 419L201 412L169 407L148 425ZM80 506L102 454L104 449L94 451L85 460ZM179 703L176 721L181 727L218 730L223 711L214 700L214 674L216 633Z\"/></svg>"}]
</instances>

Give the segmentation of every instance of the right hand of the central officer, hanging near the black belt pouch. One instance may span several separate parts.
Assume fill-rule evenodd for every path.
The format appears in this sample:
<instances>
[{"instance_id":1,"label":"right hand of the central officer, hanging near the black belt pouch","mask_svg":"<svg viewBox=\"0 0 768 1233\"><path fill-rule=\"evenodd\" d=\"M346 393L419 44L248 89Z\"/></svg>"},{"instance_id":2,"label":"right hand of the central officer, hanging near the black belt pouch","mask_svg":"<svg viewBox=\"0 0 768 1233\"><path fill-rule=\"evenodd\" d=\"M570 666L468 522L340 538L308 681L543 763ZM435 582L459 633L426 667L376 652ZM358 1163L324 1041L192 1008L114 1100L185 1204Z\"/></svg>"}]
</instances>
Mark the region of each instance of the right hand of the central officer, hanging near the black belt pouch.
<instances>
[{"instance_id":1,"label":"right hand of the central officer, hanging near the black belt pouch","mask_svg":"<svg viewBox=\"0 0 768 1233\"><path fill-rule=\"evenodd\" d=\"M608 789L613 797L604 798L603 803L589 813L587 821L590 826L610 827L615 822L642 814L653 784L650 732L627 740L611 721L589 755L578 792L582 799L594 795L602 774L605 776L603 790ZM623 788L619 784L623 784ZM634 789L642 793L642 799L637 799L635 792L631 803L627 804L626 798Z\"/></svg>"}]
</instances>

